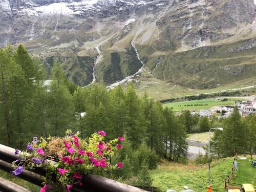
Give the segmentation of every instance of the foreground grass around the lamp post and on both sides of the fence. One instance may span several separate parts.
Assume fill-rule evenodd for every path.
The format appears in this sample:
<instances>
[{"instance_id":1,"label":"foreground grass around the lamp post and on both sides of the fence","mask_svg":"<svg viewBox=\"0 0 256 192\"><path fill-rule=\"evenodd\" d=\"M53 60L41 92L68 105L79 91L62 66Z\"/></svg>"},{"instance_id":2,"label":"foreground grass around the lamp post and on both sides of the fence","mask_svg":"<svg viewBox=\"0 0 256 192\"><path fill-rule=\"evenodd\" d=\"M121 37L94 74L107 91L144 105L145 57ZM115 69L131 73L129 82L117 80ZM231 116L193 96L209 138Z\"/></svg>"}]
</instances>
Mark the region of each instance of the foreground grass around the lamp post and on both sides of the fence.
<instances>
[{"instance_id":1,"label":"foreground grass around the lamp post and on both sides of the fence","mask_svg":"<svg viewBox=\"0 0 256 192\"><path fill-rule=\"evenodd\" d=\"M248 162L248 160L246 160ZM232 158L226 160L218 160L211 163L211 185L212 191L226 191L224 188L224 180L231 173ZM256 186L256 170L248 172L248 165L242 165L240 162L239 172L236 182L251 183ZM238 173L239 173L238 172ZM247 174L246 174L247 173ZM153 177L153 185L157 186L160 191L174 189L183 190L183 186L187 185L190 189L197 192L207 191L208 186L208 167L207 165L183 165L172 162L162 162L156 170L151 172Z\"/></svg>"}]
</instances>

